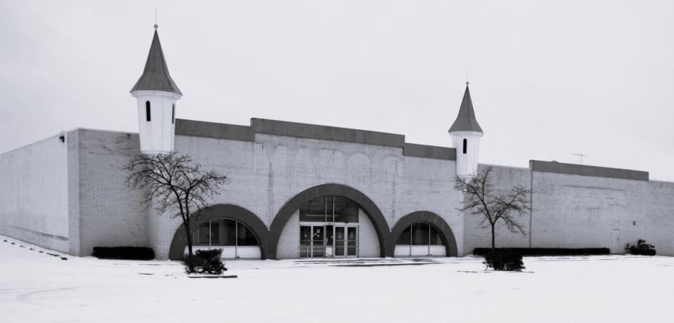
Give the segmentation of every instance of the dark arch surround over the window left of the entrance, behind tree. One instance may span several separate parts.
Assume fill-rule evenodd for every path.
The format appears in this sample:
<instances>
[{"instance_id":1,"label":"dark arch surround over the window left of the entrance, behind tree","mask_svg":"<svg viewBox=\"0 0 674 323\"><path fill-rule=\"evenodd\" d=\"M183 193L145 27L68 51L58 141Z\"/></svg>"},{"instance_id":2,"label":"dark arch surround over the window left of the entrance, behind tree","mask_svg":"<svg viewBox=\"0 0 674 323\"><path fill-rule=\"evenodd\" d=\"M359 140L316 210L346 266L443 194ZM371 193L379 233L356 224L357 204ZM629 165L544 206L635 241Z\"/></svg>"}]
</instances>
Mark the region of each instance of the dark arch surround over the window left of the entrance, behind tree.
<instances>
[{"instance_id":1,"label":"dark arch surround over the window left of the entrance, behind tree","mask_svg":"<svg viewBox=\"0 0 674 323\"><path fill-rule=\"evenodd\" d=\"M269 245L269 230L267 230L266 225L255 213L234 204L215 204L196 211L192 215L192 218L190 218L190 229L194 231L203 223L216 218L231 218L245 224L253 232L255 238L257 238L262 259L266 259L265 255ZM180 225L173 236L173 242L171 242L169 259L172 261L182 260L186 246L185 225Z\"/></svg>"}]
</instances>

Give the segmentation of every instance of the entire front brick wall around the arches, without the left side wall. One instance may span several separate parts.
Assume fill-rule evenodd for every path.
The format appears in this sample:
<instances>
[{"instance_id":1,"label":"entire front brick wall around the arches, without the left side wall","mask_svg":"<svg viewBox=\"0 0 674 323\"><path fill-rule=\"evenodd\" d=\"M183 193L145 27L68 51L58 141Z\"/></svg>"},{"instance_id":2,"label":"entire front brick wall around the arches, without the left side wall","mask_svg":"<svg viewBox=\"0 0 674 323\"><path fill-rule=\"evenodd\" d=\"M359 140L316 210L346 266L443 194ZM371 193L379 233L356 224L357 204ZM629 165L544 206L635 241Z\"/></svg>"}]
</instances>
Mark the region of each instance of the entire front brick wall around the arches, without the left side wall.
<instances>
[{"instance_id":1,"label":"entire front brick wall around the arches, without the left side wall","mask_svg":"<svg viewBox=\"0 0 674 323\"><path fill-rule=\"evenodd\" d=\"M155 249L157 258L167 258L181 220L144 209L141 193L123 183L121 167L137 153L137 135L79 130L72 136L79 153L72 159L68 153L67 192L71 202L79 199L79 203L68 205L71 253L77 242L72 237L80 235L82 246L77 252L83 255L95 245L147 244ZM372 199L389 230L408 213L432 211L450 225L460 256L490 244L488 231L477 228L478 219L456 209L462 195L453 190L455 162L450 160L404 156L400 147L259 133L254 142L176 136L176 150L228 175L228 183L212 203L242 206L268 228L280 208L299 192L340 183ZM480 165L481 169L485 166ZM647 239L656 244L659 254L674 254L670 234L674 183L542 171L534 171L532 178L531 169L504 166L493 166L493 171L497 189L533 183L535 191L533 225L529 228L529 214L520 221L528 235L513 235L499 228L498 246L529 246L531 239L533 247L609 247L617 229L621 248ZM70 178L79 178L82 183L77 182L74 188ZM279 258L297 257L297 221L296 214L283 230ZM365 222L361 220L361 256L378 256L374 230ZM79 230L72 232L72 228Z\"/></svg>"}]
</instances>

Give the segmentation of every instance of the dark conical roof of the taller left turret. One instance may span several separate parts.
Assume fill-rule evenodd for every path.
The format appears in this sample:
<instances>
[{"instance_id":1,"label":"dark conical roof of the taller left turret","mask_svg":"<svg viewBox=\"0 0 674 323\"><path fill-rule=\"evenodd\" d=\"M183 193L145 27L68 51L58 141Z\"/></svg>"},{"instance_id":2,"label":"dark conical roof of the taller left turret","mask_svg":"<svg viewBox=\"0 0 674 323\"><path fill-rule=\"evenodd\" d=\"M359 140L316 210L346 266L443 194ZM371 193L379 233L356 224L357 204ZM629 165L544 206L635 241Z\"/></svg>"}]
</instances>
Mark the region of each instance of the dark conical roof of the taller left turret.
<instances>
[{"instance_id":1,"label":"dark conical roof of the taller left turret","mask_svg":"<svg viewBox=\"0 0 674 323\"><path fill-rule=\"evenodd\" d=\"M163 91L183 95L169 74L157 29L155 29L155 37L152 39L143 75L138 79L134 88L131 88L131 93L134 91Z\"/></svg>"}]
</instances>

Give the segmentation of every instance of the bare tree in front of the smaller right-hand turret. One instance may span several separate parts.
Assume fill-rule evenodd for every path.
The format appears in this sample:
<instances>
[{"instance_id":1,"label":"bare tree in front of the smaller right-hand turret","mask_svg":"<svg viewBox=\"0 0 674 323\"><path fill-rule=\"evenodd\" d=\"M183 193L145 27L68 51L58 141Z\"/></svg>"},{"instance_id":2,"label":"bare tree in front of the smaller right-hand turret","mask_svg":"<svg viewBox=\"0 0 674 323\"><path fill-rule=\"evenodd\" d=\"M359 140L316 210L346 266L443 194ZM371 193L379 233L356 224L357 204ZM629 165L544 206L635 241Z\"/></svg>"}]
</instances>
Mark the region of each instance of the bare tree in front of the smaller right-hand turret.
<instances>
[{"instance_id":1,"label":"bare tree in front of the smaller right-hand turret","mask_svg":"<svg viewBox=\"0 0 674 323\"><path fill-rule=\"evenodd\" d=\"M516 213L521 215L529 211L528 198L531 190L524 185L515 185L505 192L497 192L489 177L491 171L491 167L488 167L466 180L457 177L455 189L465 193L463 204L458 209L469 211L481 218L481 228L491 228L491 252L495 254L497 223L505 223L510 232L526 236L513 215Z\"/></svg>"}]
</instances>

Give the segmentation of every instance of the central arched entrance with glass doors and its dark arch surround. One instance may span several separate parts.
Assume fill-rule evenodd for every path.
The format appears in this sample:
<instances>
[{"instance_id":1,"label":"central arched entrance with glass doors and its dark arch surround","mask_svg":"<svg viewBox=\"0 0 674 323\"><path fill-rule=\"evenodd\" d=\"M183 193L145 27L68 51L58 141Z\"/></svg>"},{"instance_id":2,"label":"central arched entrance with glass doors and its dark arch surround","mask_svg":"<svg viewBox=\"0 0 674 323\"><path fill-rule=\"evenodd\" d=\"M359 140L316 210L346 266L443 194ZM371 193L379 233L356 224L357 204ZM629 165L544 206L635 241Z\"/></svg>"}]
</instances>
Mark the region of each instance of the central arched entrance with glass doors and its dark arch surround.
<instances>
[{"instance_id":1,"label":"central arched entrance with glass doors and its dark arch surround","mask_svg":"<svg viewBox=\"0 0 674 323\"><path fill-rule=\"evenodd\" d=\"M288 200L271 224L267 258L277 258L281 234L293 216L298 223L290 225L297 225L297 233L285 232L297 237L299 258L357 257L360 242L366 238L377 242L375 256L386 256L389 235L386 219L370 198L353 187L317 185Z\"/></svg>"}]
</instances>

